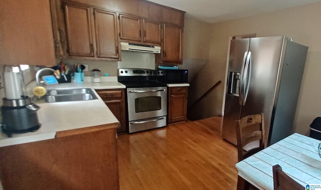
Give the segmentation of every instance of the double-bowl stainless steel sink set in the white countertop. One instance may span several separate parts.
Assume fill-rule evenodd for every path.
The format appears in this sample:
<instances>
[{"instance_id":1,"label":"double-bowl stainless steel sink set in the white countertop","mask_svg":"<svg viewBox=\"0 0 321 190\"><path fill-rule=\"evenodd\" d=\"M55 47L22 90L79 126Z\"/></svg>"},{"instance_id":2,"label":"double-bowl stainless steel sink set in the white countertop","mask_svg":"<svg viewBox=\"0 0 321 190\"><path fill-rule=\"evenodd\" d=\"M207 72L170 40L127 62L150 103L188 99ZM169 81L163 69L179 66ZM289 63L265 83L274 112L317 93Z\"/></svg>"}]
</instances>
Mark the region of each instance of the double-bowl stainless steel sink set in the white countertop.
<instances>
[{"instance_id":1,"label":"double-bowl stainless steel sink set in the white countertop","mask_svg":"<svg viewBox=\"0 0 321 190\"><path fill-rule=\"evenodd\" d=\"M95 93L90 88L75 88L75 89L53 89L48 90L45 97L45 102L70 102L70 101L87 101L97 100Z\"/></svg>"}]
</instances>

